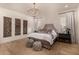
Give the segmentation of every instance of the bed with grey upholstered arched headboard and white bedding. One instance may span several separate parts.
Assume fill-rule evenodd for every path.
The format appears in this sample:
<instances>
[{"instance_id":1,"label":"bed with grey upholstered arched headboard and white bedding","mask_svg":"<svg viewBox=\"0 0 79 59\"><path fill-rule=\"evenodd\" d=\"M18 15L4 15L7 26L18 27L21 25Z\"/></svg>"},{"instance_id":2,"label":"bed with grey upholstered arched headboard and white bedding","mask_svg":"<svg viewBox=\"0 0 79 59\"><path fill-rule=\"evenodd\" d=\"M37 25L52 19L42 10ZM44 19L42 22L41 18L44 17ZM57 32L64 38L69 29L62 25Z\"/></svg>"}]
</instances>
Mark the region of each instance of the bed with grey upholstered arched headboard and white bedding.
<instances>
[{"instance_id":1,"label":"bed with grey upholstered arched headboard and white bedding","mask_svg":"<svg viewBox=\"0 0 79 59\"><path fill-rule=\"evenodd\" d=\"M46 24L43 29L27 35L29 39L41 41L42 46L50 49L57 37L57 30L53 24Z\"/></svg>"}]
</instances>

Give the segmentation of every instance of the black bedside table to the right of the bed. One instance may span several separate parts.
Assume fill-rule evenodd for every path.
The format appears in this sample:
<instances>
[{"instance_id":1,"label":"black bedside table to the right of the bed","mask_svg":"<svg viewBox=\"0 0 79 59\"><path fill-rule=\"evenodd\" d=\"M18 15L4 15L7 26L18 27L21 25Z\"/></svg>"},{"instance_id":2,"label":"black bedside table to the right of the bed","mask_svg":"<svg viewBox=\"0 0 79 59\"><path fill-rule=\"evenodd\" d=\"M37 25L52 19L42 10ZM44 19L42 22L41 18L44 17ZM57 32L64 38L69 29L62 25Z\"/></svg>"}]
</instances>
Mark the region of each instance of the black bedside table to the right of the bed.
<instances>
[{"instance_id":1,"label":"black bedside table to the right of the bed","mask_svg":"<svg viewBox=\"0 0 79 59\"><path fill-rule=\"evenodd\" d=\"M65 33L59 33L57 41L71 43L71 35Z\"/></svg>"}]
</instances>

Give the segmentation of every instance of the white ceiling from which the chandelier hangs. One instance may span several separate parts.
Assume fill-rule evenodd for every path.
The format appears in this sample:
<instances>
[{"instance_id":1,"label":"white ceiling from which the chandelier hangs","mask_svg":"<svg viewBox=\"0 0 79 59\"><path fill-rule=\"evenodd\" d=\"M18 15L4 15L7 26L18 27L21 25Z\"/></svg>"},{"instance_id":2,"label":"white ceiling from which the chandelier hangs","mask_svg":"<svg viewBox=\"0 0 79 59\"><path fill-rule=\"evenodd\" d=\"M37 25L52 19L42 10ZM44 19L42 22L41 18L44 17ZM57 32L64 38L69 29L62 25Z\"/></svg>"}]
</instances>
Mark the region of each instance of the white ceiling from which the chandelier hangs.
<instances>
[{"instance_id":1,"label":"white ceiling from which the chandelier hangs","mask_svg":"<svg viewBox=\"0 0 79 59\"><path fill-rule=\"evenodd\" d=\"M67 5L67 7L65 7L65 5ZM78 5L78 3L37 3L36 7L38 7L43 12L47 12L49 9L52 11L73 9L77 8ZM0 3L0 7L27 14L27 10L33 6L32 3Z\"/></svg>"}]
</instances>

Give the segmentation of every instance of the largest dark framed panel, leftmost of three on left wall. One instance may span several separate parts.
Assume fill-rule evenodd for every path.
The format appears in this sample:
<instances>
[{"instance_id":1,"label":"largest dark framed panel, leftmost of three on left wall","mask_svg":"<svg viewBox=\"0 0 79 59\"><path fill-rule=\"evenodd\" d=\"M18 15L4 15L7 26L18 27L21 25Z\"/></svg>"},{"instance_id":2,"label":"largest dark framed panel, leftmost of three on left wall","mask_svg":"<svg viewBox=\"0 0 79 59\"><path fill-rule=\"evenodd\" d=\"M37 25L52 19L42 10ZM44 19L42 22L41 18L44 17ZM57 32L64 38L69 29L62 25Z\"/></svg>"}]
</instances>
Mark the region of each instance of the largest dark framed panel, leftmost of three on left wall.
<instances>
[{"instance_id":1,"label":"largest dark framed panel, leftmost of three on left wall","mask_svg":"<svg viewBox=\"0 0 79 59\"><path fill-rule=\"evenodd\" d=\"M3 18L4 27L3 27L3 37L9 37L12 34L12 19L10 17Z\"/></svg>"}]
</instances>

